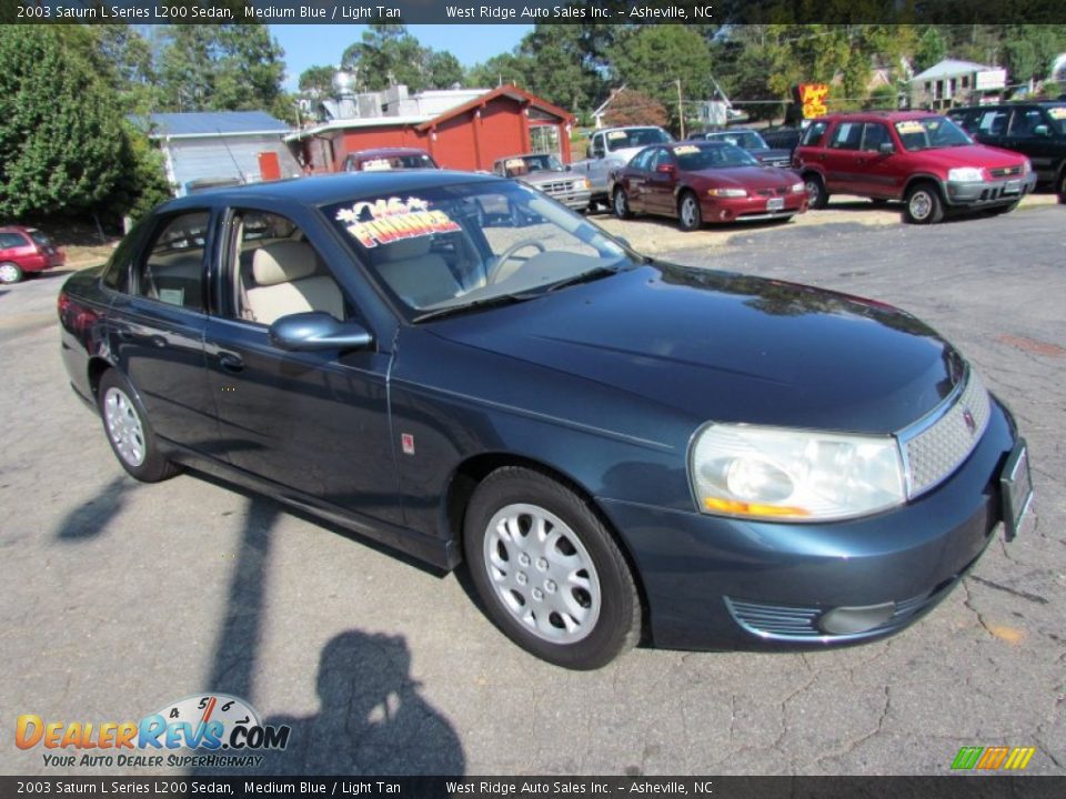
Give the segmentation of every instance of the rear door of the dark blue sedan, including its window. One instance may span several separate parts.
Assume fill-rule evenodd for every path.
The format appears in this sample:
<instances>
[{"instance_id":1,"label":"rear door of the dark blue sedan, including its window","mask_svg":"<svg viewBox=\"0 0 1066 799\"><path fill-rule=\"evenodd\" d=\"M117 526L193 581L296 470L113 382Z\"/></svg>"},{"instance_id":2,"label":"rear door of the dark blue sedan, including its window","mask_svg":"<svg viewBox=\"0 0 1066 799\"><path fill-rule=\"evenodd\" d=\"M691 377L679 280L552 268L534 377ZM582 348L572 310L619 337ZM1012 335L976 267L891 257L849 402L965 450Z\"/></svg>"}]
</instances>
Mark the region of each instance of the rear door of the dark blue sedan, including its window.
<instances>
[{"instance_id":1,"label":"rear door of the dark blue sedan, including its window","mask_svg":"<svg viewBox=\"0 0 1066 799\"><path fill-rule=\"evenodd\" d=\"M199 452L217 434L203 356L207 253L214 244L209 208L159 219L134 254L111 303L108 337L155 433Z\"/></svg>"}]
</instances>

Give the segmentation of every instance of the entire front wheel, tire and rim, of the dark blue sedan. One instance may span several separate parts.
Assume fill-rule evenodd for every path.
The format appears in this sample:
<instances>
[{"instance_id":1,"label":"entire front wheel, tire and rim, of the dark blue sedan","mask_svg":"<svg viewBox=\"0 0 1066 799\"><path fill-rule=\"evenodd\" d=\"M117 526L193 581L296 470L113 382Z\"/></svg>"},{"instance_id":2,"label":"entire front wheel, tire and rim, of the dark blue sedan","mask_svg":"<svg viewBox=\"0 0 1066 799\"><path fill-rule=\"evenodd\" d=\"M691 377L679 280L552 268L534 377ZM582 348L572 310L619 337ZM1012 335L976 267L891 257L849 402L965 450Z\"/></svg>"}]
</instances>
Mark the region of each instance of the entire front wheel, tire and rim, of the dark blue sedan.
<instances>
[{"instance_id":1,"label":"entire front wheel, tire and rim, of the dark blue sedan","mask_svg":"<svg viewBox=\"0 0 1066 799\"><path fill-rule=\"evenodd\" d=\"M489 475L466 508L463 550L490 619L532 655L596 669L640 639L622 552L589 503L551 477L514 466Z\"/></svg>"}]
</instances>

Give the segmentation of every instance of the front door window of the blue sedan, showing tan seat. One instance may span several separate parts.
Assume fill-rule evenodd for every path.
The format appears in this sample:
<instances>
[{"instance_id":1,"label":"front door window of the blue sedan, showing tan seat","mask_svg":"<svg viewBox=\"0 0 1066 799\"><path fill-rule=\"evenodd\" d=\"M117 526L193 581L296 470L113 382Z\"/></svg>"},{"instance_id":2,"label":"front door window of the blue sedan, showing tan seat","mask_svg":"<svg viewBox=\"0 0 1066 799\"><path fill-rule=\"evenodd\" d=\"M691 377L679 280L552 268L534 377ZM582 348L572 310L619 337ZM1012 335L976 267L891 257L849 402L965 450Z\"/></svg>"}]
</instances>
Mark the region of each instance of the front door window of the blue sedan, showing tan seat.
<instances>
[{"instance_id":1,"label":"front door window of the blue sedan, showing tan seat","mask_svg":"<svg viewBox=\"0 0 1066 799\"><path fill-rule=\"evenodd\" d=\"M232 316L262 325L309 311L341 321L352 316L325 261L289 219L238 210L230 231Z\"/></svg>"}]
</instances>

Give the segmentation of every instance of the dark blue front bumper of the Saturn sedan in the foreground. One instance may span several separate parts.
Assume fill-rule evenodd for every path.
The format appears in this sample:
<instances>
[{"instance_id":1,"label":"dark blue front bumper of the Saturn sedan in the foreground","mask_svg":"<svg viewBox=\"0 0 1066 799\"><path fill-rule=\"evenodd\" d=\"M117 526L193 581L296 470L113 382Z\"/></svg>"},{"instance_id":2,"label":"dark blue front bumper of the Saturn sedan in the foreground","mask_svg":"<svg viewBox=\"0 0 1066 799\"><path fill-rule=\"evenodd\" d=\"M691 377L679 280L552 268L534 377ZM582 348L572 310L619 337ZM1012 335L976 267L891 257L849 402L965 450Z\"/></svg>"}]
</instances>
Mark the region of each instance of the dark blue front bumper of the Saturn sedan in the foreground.
<instances>
[{"instance_id":1,"label":"dark blue front bumper of the Saturn sedan in the foreground","mask_svg":"<svg viewBox=\"0 0 1066 799\"><path fill-rule=\"evenodd\" d=\"M821 649L891 635L943 599L993 538L998 476L1016 441L993 402L957 472L912 503L829 524L745 522L601 499L628 547L656 645ZM889 605L884 624L827 635L834 608Z\"/></svg>"}]
</instances>

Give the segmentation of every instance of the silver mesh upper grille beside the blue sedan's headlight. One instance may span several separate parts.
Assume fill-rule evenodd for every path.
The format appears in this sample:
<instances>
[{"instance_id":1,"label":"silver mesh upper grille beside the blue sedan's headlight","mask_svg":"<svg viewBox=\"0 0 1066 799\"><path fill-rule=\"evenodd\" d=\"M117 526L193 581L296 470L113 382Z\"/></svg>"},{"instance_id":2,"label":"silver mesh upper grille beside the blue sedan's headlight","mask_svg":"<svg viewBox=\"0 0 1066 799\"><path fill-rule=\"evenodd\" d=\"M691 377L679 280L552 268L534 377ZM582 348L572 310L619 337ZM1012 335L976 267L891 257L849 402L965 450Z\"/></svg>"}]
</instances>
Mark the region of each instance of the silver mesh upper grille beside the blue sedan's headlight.
<instances>
[{"instance_id":1,"label":"silver mesh upper grille beside the blue sedan's headlight","mask_svg":"<svg viewBox=\"0 0 1066 799\"><path fill-rule=\"evenodd\" d=\"M932 423L919 423L913 434L901 434L911 497L951 475L973 452L988 424L988 392L971 370L966 387L954 405Z\"/></svg>"}]
</instances>

